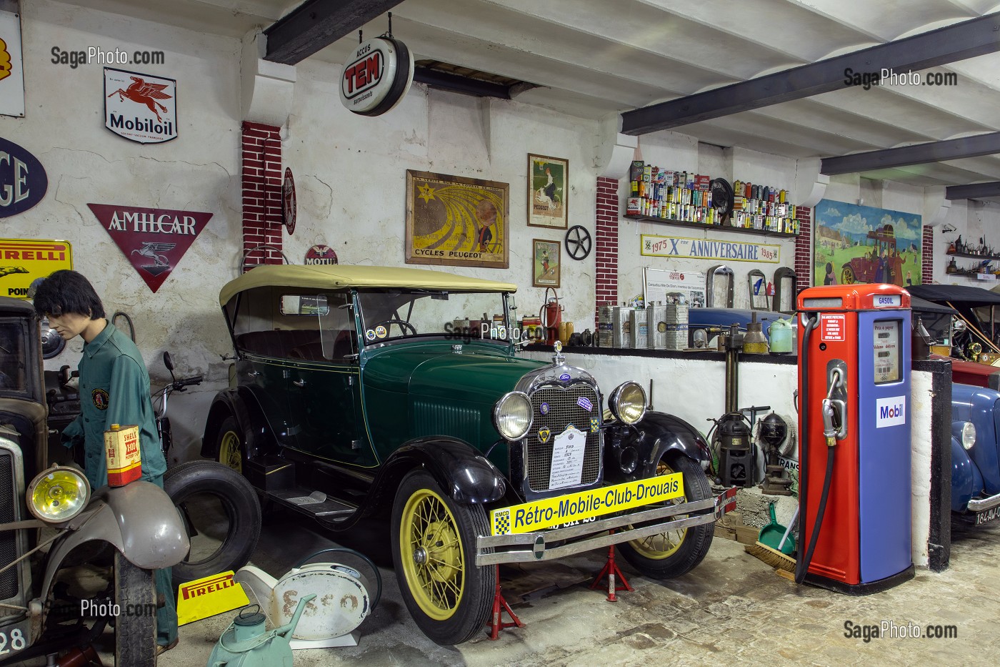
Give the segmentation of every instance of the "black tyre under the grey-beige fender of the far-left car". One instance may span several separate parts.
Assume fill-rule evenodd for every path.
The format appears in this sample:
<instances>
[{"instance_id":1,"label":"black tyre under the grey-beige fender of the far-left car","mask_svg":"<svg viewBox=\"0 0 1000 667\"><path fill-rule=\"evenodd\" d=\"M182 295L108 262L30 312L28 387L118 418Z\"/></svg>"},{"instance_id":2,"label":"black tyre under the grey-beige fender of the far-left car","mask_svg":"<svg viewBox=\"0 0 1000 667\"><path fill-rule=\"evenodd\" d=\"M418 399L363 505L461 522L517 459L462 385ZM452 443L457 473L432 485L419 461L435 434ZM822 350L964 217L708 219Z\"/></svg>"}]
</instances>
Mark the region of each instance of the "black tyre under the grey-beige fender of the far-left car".
<instances>
[{"instance_id":1,"label":"black tyre under the grey-beige fender of the far-left car","mask_svg":"<svg viewBox=\"0 0 1000 667\"><path fill-rule=\"evenodd\" d=\"M156 665L156 588L153 571L132 565L115 551L115 664Z\"/></svg>"}]
</instances>

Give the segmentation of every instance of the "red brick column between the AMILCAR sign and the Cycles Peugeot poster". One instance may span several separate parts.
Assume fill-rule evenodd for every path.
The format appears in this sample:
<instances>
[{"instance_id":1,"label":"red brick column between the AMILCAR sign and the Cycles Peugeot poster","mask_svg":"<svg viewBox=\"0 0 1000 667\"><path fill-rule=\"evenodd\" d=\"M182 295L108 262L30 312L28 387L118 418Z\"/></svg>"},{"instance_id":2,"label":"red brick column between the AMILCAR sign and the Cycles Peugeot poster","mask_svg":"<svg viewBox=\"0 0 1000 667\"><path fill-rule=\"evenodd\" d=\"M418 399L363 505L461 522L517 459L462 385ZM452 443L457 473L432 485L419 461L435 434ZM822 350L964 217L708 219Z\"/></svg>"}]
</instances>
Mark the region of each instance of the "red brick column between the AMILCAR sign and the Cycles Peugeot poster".
<instances>
[{"instance_id":1,"label":"red brick column between the AMILCAR sign and the Cycles Peugeot poster","mask_svg":"<svg viewBox=\"0 0 1000 667\"><path fill-rule=\"evenodd\" d=\"M243 252L245 265L280 264L281 136L280 128L243 123ZM278 251L247 250L262 244Z\"/></svg>"}]
</instances>

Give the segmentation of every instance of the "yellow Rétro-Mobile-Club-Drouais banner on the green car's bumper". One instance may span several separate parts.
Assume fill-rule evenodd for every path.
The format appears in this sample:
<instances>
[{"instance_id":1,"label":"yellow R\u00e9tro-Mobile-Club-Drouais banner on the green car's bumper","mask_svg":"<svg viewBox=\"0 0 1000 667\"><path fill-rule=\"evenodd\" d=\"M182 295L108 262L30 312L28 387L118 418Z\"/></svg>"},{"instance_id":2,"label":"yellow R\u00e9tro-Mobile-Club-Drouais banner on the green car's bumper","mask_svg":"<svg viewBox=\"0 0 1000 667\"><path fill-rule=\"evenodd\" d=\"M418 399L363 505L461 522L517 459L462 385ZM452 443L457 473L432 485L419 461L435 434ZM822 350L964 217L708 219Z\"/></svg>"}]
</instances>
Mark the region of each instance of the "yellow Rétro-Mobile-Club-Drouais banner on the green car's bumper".
<instances>
[{"instance_id":1,"label":"yellow R\u00e9tro-Mobile-Club-Drouais banner on the green car's bumper","mask_svg":"<svg viewBox=\"0 0 1000 667\"><path fill-rule=\"evenodd\" d=\"M490 526L493 535L531 533L570 521L674 500L683 495L683 476L673 473L493 510Z\"/></svg>"}]
</instances>

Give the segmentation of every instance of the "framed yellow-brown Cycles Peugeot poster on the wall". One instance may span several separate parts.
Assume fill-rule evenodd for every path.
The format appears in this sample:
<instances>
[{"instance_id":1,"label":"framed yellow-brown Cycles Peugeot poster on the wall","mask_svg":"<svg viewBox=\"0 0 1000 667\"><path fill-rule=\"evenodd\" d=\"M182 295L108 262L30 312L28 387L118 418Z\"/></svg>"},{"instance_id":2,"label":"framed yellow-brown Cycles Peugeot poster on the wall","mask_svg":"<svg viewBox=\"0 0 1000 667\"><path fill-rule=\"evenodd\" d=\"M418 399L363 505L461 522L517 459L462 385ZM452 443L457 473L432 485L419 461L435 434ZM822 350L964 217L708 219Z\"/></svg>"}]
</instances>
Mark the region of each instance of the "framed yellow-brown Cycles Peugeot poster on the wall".
<instances>
[{"instance_id":1,"label":"framed yellow-brown Cycles Peugeot poster on the wall","mask_svg":"<svg viewBox=\"0 0 1000 667\"><path fill-rule=\"evenodd\" d=\"M507 183L406 170L406 263L507 268Z\"/></svg>"}]
</instances>

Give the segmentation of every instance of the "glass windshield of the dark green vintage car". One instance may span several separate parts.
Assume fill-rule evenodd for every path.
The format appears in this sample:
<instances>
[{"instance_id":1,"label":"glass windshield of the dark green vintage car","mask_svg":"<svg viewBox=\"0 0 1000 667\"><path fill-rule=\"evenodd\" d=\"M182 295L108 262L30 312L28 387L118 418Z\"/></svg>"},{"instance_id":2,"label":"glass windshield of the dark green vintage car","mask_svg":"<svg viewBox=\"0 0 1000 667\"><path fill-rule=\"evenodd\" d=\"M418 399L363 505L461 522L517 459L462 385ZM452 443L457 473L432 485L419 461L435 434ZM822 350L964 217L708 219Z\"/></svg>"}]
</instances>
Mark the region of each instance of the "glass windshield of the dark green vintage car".
<instances>
[{"instance_id":1,"label":"glass windshield of the dark green vintage car","mask_svg":"<svg viewBox=\"0 0 1000 667\"><path fill-rule=\"evenodd\" d=\"M406 337L509 341L507 303L499 292L365 290L358 294L366 345Z\"/></svg>"}]
</instances>

